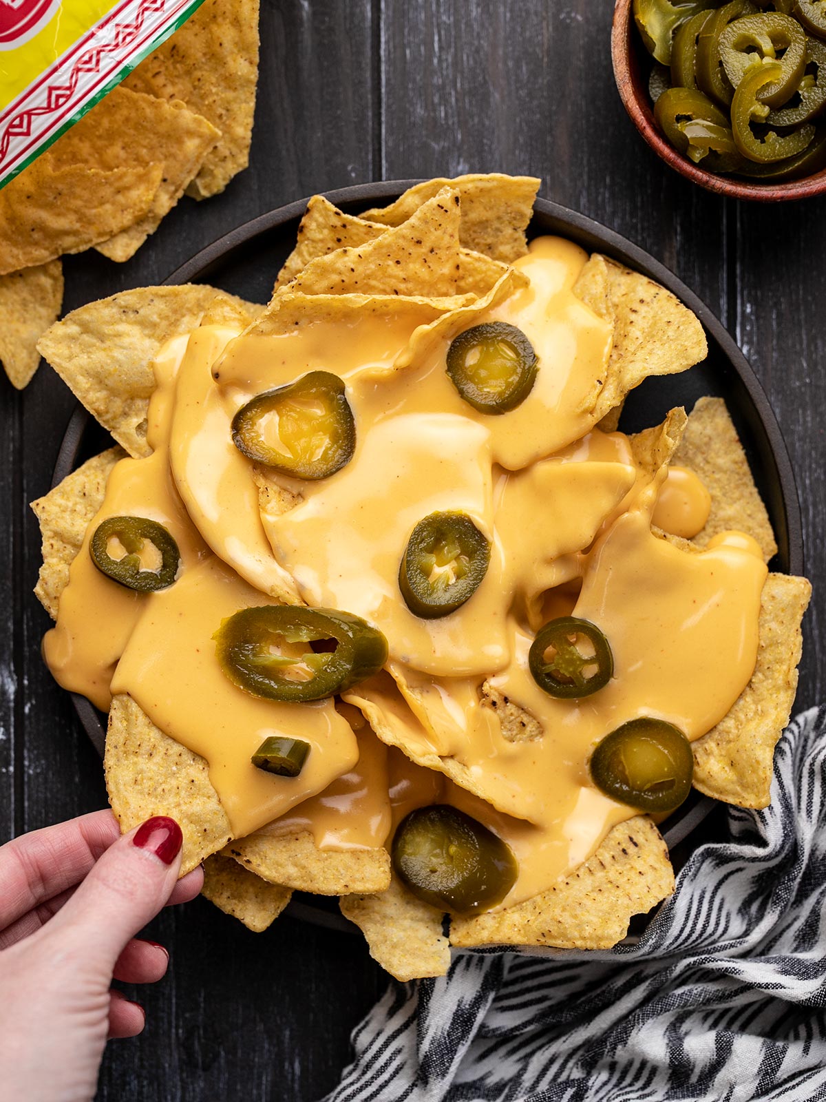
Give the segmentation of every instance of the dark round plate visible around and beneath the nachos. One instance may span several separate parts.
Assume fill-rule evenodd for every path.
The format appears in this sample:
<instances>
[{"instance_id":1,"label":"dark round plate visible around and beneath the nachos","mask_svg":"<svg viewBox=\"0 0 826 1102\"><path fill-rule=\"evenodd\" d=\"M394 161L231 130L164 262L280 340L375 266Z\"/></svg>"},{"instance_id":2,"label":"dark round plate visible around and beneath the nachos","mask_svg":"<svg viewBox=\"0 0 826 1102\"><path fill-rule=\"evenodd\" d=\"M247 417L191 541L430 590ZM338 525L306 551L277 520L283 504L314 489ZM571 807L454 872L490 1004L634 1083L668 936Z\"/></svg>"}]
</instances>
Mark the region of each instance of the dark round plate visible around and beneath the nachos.
<instances>
[{"instance_id":1,"label":"dark round plate visible around and beneath the nachos","mask_svg":"<svg viewBox=\"0 0 826 1102\"><path fill-rule=\"evenodd\" d=\"M327 198L348 213L358 214L371 206L391 203L415 180L359 184ZM219 238L173 272L165 283L209 282L251 302L267 302L281 264L295 245L298 222L307 201L271 210ZM740 433L758 488L765 501L778 539L778 554L772 569L790 574L803 573L803 538L797 489L789 453L774 412L746 357L710 310L697 299L667 268L648 252L600 226L590 218L565 207L537 199L529 236L556 234L567 237L588 252L605 252L620 263L633 268L672 291L699 317L708 337L706 359L682 375L645 380L632 391L622 412L621 428L635 432L657 424L675 406L687 409L705 396L724 398ZM55 464L56 485L79 463L102 449L111 440L84 409L69 421ZM102 754L105 717L83 696L74 696L75 707L89 738ZM663 834L674 850L703 822L715 807L708 797L693 792L686 802L664 823ZM334 907L334 900L297 893L287 912L336 929L355 927Z\"/></svg>"}]
</instances>

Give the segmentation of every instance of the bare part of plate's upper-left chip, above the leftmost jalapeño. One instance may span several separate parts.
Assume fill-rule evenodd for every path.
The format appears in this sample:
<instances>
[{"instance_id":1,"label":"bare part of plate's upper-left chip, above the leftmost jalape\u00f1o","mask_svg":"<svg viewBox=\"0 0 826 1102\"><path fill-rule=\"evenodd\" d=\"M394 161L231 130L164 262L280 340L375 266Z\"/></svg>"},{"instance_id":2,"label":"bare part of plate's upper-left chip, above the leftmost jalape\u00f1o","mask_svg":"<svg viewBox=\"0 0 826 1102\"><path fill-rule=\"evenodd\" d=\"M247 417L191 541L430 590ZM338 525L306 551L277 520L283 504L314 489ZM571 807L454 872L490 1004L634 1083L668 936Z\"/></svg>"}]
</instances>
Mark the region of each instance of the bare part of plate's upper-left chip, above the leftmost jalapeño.
<instances>
[{"instance_id":1,"label":"bare part of plate's upper-left chip, above the leftmost jalape\u00f1o","mask_svg":"<svg viewBox=\"0 0 826 1102\"><path fill-rule=\"evenodd\" d=\"M74 310L43 334L37 349L118 443L140 458L152 451L146 443L152 361L166 341L195 328L216 298L249 309L235 295L196 283L137 288Z\"/></svg>"}]
</instances>

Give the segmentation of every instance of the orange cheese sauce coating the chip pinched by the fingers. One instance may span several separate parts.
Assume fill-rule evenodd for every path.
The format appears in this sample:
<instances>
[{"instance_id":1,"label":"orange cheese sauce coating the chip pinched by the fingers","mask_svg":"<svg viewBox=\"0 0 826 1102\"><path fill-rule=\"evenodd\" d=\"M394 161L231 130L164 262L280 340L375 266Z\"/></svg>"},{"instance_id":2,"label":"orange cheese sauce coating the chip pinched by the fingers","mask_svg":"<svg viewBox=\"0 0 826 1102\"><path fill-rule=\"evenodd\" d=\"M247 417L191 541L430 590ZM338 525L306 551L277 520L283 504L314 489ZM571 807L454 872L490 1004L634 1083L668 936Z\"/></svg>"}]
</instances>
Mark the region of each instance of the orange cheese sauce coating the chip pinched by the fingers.
<instances>
[{"instance_id":1,"label":"orange cheese sauce coating the chip pinched by the fingers","mask_svg":"<svg viewBox=\"0 0 826 1102\"><path fill-rule=\"evenodd\" d=\"M244 692L220 668L213 636L228 616L272 603L210 557L152 594L112 679L155 726L209 763L237 838L320 792L358 760L356 737L332 700L282 704ZM271 735L298 735L309 755L298 777L276 777L250 758Z\"/></svg>"}]
</instances>

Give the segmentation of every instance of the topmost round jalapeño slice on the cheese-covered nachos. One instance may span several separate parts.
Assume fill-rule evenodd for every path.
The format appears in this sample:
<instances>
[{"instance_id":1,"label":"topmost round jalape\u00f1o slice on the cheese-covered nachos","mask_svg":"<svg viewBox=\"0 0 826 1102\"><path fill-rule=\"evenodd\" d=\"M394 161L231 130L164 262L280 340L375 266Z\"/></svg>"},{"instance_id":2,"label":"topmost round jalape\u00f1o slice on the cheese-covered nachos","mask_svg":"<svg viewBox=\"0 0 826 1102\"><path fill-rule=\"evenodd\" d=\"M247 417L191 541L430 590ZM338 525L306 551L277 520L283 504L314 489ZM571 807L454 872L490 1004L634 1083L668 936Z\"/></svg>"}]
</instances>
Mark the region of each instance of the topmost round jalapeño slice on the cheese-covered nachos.
<instances>
[{"instance_id":1,"label":"topmost round jalape\u00f1o slice on the cheese-covered nachos","mask_svg":"<svg viewBox=\"0 0 826 1102\"><path fill-rule=\"evenodd\" d=\"M447 349L447 374L480 413L507 413L528 398L536 379L536 353L522 329L487 322L459 333Z\"/></svg>"}]
</instances>

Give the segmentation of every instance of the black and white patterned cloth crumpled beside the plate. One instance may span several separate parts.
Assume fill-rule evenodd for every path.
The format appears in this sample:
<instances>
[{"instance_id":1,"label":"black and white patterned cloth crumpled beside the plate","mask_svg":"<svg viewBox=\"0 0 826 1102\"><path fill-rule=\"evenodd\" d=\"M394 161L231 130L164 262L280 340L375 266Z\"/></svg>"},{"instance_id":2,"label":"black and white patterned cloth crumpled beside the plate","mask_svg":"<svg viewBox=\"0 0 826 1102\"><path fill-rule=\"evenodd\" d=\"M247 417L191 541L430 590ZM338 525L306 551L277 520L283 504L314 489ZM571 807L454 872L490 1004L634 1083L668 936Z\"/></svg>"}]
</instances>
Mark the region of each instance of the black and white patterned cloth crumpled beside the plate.
<instances>
[{"instance_id":1,"label":"black and white patterned cloth crumpled beside the plate","mask_svg":"<svg viewBox=\"0 0 826 1102\"><path fill-rule=\"evenodd\" d=\"M731 808L635 946L457 953L395 984L327 1102L826 1100L826 709Z\"/></svg>"}]
</instances>

